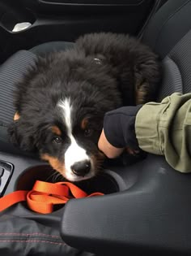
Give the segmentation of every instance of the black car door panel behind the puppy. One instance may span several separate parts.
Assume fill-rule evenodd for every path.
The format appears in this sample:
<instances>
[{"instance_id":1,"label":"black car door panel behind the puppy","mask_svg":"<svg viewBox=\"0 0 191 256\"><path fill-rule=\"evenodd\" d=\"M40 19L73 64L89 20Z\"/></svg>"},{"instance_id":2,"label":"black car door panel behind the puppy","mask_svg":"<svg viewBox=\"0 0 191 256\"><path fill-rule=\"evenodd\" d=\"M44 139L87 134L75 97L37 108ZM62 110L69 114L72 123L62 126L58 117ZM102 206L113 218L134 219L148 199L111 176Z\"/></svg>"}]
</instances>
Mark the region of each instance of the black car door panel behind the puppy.
<instances>
[{"instance_id":1,"label":"black car door panel behind the puppy","mask_svg":"<svg viewBox=\"0 0 191 256\"><path fill-rule=\"evenodd\" d=\"M156 11L159 0L2 0L0 2L0 61L15 51L47 41L74 41L84 33L130 33L137 36ZM15 24L31 26L13 33Z\"/></svg>"}]
</instances>

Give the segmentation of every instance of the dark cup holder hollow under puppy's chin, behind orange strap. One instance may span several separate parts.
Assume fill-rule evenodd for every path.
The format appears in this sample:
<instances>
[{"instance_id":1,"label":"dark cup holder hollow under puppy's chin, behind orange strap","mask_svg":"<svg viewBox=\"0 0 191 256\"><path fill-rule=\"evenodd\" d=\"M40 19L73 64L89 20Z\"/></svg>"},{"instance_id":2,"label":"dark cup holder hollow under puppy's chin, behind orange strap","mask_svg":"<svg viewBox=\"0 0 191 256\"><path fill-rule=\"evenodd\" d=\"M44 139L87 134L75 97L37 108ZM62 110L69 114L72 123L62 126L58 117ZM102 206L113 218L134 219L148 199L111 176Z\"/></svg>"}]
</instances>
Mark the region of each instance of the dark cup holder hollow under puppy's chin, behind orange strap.
<instances>
[{"instance_id":1,"label":"dark cup holder hollow under puppy's chin, behind orange strap","mask_svg":"<svg viewBox=\"0 0 191 256\"><path fill-rule=\"evenodd\" d=\"M47 165L29 168L23 171L19 176L15 190L31 190L36 180L47 182L66 181L62 176L59 176L57 171L54 171ZM119 191L116 180L109 176L107 173L100 173L91 180L83 180L75 183L79 188L83 189L86 193L115 193Z\"/></svg>"}]
</instances>

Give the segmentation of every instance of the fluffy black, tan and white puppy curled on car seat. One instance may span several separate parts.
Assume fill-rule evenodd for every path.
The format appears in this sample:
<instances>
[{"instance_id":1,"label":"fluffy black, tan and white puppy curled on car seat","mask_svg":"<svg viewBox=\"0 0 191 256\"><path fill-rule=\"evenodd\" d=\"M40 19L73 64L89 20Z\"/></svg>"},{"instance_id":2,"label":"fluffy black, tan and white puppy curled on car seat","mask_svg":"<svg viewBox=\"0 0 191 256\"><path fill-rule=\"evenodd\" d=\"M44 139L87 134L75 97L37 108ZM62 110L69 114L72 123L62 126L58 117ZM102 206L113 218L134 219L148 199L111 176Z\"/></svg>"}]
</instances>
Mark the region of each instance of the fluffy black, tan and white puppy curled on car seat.
<instances>
[{"instance_id":1,"label":"fluffy black, tan and white puppy curled on car seat","mask_svg":"<svg viewBox=\"0 0 191 256\"><path fill-rule=\"evenodd\" d=\"M136 39L87 34L70 50L39 58L17 85L11 141L67 180L91 178L103 154L97 142L104 113L155 98L158 57Z\"/></svg>"}]
</instances>

